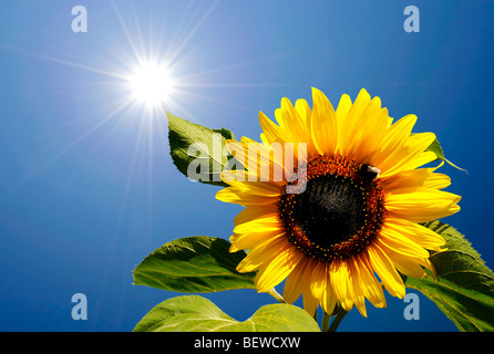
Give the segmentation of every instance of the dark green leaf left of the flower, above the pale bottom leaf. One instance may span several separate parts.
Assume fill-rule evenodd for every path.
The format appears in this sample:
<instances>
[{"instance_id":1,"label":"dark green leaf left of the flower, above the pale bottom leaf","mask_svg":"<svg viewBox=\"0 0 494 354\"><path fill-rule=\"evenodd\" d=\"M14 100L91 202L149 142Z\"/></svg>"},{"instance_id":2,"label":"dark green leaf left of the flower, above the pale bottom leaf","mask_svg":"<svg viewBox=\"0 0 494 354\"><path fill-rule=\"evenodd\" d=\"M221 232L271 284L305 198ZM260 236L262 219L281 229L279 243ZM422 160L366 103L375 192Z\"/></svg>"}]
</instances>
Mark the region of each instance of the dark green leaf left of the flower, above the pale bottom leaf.
<instances>
[{"instance_id":1,"label":"dark green leaf left of the flower, above the pale bottom leaf","mask_svg":"<svg viewBox=\"0 0 494 354\"><path fill-rule=\"evenodd\" d=\"M174 240L135 268L134 284L186 293L255 289L255 273L236 270L246 253L230 253L229 247L224 239L206 236Z\"/></svg>"}]
</instances>

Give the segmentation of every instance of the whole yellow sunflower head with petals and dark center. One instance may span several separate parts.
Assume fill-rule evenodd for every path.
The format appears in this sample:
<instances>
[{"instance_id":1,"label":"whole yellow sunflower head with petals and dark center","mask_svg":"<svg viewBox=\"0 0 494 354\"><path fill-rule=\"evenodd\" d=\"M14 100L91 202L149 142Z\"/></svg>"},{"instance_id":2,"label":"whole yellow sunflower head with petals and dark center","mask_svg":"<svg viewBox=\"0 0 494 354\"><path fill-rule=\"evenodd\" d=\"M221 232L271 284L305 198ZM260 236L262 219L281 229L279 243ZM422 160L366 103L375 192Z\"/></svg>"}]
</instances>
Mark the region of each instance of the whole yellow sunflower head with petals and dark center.
<instances>
[{"instance_id":1,"label":"whole yellow sunflower head with petals and dark center","mask_svg":"<svg viewBox=\"0 0 494 354\"><path fill-rule=\"evenodd\" d=\"M404 298L401 274L434 272L428 250L441 251L445 241L420 222L459 211L461 197L441 190L451 179L438 167L419 168L436 159L426 150L435 135L412 134L415 115L393 123L366 90L353 103L342 95L335 111L312 88L312 103L282 98L277 124L259 114L261 143L229 140L248 171L225 173L228 187L216 198L245 207L234 220L230 252L249 250L237 270L257 271L259 292L286 280L285 301L302 295L310 314L338 305L367 316L366 299L385 306L383 288ZM294 168L290 154L298 158Z\"/></svg>"}]
</instances>

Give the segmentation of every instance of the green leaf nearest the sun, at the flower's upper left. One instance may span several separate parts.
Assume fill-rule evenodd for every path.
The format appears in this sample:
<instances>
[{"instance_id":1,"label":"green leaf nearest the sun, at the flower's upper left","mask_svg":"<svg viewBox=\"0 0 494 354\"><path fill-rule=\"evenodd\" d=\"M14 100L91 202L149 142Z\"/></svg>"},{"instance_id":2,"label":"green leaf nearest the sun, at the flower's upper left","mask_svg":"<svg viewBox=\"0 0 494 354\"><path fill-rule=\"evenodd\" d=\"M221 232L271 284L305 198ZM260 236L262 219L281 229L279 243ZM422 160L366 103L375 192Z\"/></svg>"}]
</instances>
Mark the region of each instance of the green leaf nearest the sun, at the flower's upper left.
<instances>
[{"instance_id":1,"label":"green leaf nearest the sun, at the flower's upper left","mask_svg":"<svg viewBox=\"0 0 494 354\"><path fill-rule=\"evenodd\" d=\"M181 173L193 180L224 186L220 173L229 168L229 154L224 154L225 144L234 139L226 129L209 129L166 112L168 139L173 163Z\"/></svg>"}]
</instances>

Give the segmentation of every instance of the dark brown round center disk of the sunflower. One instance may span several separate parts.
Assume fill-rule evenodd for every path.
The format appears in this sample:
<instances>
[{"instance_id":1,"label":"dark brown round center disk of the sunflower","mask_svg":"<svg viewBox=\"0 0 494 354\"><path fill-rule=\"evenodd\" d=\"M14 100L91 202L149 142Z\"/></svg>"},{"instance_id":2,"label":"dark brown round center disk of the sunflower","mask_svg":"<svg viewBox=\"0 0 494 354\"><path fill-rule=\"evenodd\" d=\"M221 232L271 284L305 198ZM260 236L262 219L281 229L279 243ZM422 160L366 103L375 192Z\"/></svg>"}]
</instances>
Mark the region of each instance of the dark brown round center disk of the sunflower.
<instances>
[{"instance_id":1,"label":"dark brown round center disk of the sunflower","mask_svg":"<svg viewBox=\"0 0 494 354\"><path fill-rule=\"evenodd\" d=\"M282 192L279 218L287 237L306 256L320 260L358 254L378 236L384 219L379 179L341 156L307 164L306 189ZM294 185L301 181L292 183Z\"/></svg>"}]
</instances>

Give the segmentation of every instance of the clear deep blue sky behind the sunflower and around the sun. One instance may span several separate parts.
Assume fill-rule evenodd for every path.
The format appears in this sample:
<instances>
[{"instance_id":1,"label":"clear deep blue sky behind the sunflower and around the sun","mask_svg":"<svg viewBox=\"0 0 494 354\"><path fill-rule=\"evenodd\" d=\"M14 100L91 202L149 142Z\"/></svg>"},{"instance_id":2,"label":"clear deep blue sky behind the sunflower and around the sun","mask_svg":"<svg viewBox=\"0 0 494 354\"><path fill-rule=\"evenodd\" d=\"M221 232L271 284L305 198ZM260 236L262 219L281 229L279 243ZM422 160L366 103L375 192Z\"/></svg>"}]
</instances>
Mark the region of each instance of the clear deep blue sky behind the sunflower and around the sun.
<instances>
[{"instance_id":1,"label":"clear deep blue sky behind the sunflower and around the sun","mask_svg":"<svg viewBox=\"0 0 494 354\"><path fill-rule=\"evenodd\" d=\"M88 32L71 29L74 6ZM420 32L403 10L420 10ZM130 101L145 59L166 63L175 115L258 138L281 97L332 102L361 87L393 117L434 132L462 211L444 221L493 267L493 1L9 1L0 13L0 330L131 331L175 293L132 285L132 270L176 238L228 238L239 211L173 166L166 117ZM173 69L173 70L172 70ZM88 296L73 321L71 298ZM266 294L207 294L245 320ZM455 331L428 299L352 311L342 331ZM239 306L239 304L241 304Z\"/></svg>"}]
</instances>

